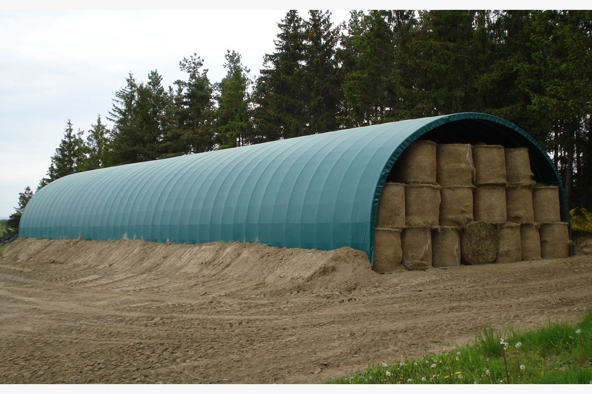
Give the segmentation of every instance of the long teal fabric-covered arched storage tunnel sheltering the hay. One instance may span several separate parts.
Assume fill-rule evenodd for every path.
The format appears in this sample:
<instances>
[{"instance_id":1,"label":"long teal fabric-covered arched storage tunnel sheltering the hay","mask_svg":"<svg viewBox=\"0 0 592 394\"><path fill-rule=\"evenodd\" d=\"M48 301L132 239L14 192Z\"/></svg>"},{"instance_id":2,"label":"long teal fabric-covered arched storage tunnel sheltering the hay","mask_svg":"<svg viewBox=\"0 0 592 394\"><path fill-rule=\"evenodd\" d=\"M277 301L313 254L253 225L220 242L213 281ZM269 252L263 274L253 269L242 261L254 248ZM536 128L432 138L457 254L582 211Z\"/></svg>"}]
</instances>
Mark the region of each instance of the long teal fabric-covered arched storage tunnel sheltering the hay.
<instances>
[{"instance_id":1,"label":"long teal fabric-covered arched storage tunnel sheltering the hay","mask_svg":"<svg viewBox=\"0 0 592 394\"><path fill-rule=\"evenodd\" d=\"M372 262L384 184L423 138L528 148L534 180L559 185L561 220L569 222L561 179L532 136L496 116L456 113L68 175L31 198L19 235L349 246Z\"/></svg>"}]
</instances>

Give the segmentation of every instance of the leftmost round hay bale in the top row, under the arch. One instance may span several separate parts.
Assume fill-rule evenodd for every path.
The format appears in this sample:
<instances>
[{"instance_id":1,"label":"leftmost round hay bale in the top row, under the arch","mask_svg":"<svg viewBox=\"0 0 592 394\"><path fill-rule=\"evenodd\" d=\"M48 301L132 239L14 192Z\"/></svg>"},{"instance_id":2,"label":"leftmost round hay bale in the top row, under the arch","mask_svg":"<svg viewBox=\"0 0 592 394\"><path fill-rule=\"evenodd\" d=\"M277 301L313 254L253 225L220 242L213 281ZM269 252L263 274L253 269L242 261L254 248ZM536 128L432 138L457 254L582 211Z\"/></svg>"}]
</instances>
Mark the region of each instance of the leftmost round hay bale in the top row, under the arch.
<instances>
[{"instance_id":1,"label":"leftmost round hay bale in the top row, under the arch","mask_svg":"<svg viewBox=\"0 0 592 394\"><path fill-rule=\"evenodd\" d=\"M436 142L413 142L397 159L393 171L397 182L436 184Z\"/></svg>"}]
</instances>

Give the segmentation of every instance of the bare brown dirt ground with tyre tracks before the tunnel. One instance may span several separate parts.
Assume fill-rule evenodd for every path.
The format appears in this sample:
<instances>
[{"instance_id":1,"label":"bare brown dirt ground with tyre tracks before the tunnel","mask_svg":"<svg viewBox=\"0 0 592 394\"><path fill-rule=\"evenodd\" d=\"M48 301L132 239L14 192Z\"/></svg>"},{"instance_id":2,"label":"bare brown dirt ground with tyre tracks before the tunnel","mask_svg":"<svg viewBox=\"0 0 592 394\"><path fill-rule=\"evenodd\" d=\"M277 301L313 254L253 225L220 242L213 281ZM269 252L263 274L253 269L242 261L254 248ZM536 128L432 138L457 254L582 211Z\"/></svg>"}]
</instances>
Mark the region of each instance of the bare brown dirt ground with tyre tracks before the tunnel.
<instances>
[{"instance_id":1,"label":"bare brown dirt ground with tyre tracks before the tunnel","mask_svg":"<svg viewBox=\"0 0 592 394\"><path fill-rule=\"evenodd\" d=\"M19 239L0 383L323 382L590 308L584 254L378 275L348 248Z\"/></svg>"}]
</instances>

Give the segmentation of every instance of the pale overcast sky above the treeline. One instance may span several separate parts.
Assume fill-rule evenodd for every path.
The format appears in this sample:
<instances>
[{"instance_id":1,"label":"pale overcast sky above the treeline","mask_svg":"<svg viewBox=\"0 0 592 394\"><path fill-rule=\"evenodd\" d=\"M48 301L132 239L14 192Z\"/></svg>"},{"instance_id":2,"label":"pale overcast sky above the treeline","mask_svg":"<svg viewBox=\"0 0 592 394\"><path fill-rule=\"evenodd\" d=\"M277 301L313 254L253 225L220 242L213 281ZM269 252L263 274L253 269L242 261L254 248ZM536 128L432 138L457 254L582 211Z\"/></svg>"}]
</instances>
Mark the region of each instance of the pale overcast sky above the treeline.
<instances>
[{"instance_id":1,"label":"pale overcast sky above the treeline","mask_svg":"<svg viewBox=\"0 0 592 394\"><path fill-rule=\"evenodd\" d=\"M256 76L285 12L0 11L0 218L27 185L37 188L67 119L88 130L129 71L146 80L156 69L166 87L185 78L179 60L197 53L216 82L230 49ZM336 23L348 18L333 11Z\"/></svg>"}]
</instances>

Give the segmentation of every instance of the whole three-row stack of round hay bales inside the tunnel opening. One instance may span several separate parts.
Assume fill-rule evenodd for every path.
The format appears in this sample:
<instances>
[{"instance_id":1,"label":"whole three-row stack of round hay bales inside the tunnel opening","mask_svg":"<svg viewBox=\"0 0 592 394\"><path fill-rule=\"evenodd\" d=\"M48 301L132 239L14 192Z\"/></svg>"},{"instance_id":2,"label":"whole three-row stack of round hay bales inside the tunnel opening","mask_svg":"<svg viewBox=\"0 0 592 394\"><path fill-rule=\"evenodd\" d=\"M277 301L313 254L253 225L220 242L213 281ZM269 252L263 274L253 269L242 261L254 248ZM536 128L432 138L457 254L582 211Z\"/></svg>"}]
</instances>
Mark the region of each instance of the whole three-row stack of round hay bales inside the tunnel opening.
<instances>
[{"instance_id":1,"label":"whole three-row stack of round hay bales inside the tunnel opening","mask_svg":"<svg viewBox=\"0 0 592 394\"><path fill-rule=\"evenodd\" d=\"M556 186L535 185L527 148L416 141L381 197L374 269L564 258Z\"/></svg>"}]
</instances>

